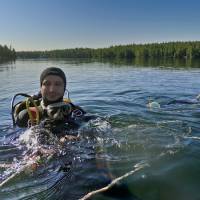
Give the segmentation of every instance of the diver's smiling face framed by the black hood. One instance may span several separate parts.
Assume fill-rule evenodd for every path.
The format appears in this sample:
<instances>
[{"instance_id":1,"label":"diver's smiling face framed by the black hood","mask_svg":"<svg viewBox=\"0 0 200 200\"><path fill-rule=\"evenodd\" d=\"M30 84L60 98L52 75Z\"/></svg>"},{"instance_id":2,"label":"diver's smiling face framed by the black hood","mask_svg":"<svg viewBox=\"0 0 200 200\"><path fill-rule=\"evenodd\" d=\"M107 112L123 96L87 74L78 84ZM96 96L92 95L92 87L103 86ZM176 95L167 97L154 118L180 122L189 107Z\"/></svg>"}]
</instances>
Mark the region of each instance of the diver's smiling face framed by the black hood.
<instances>
[{"instance_id":1,"label":"diver's smiling face framed by the black hood","mask_svg":"<svg viewBox=\"0 0 200 200\"><path fill-rule=\"evenodd\" d=\"M64 82L61 77L48 75L40 88L42 97L48 101L56 101L64 96Z\"/></svg>"}]
</instances>

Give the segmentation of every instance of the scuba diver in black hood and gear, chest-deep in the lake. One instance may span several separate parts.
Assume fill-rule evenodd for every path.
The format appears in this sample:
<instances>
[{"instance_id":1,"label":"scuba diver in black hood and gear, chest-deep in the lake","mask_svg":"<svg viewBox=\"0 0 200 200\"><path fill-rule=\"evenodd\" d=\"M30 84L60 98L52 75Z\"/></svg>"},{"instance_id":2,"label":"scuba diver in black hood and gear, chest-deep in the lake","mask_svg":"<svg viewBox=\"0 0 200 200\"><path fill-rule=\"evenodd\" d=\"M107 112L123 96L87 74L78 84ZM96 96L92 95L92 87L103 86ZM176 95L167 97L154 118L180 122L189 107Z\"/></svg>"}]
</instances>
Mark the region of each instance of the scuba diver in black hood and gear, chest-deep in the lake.
<instances>
[{"instance_id":1,"label":"scuba diver in black hood and gear, chest-deep in the lake","mask_svg":"<svg viewBox=\"0 0 200 200\"><path fill-rule=\"evenodd\" d=\"M46 68L40 75L40 92L37 95L17 94L28 98L12 105L13 124L30 127L45 122L52 132L63 134L61 130L76 129L81 121L90 120L81 107L64 98L66 85L65 73L60 68Z\"/></svg>"}]
</instances>

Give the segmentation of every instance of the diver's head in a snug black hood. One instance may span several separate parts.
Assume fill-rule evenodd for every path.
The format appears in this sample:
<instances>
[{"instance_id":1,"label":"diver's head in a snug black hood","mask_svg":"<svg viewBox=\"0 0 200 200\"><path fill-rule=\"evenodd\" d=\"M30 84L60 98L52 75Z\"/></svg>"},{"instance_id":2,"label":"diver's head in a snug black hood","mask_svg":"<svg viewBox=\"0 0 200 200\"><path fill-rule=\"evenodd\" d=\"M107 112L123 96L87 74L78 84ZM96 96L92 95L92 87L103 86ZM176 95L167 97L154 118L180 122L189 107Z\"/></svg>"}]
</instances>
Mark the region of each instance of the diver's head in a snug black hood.
<instances>
[{"instance_id":1,"label":"diver's head in a snug black hood","mask_svg":"<svg viewBox=\"0 0 200 200\"><path fill-rule=\"evenodd\" d=\"M45 105L63 100L66 89L65 73L57 67L45 69L40 76L40 91Z\"/></svg>"}]
</instances>

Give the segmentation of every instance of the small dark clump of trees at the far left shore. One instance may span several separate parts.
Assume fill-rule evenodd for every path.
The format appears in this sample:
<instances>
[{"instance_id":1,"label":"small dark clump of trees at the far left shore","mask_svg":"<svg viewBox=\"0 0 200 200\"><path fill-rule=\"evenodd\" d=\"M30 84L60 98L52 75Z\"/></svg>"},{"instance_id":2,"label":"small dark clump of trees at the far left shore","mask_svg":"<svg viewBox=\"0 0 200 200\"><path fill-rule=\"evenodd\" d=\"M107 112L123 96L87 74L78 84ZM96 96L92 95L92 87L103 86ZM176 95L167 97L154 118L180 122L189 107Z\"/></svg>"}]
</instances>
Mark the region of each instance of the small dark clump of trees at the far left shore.
<instances>
[{"instance_id":1,"label":"small dark clump of trees at the far left shore","mask_svg":"<svg viewBox=\"0 0 200 200\"><path fill-rule=\"evenodd\" d=\"M6 45L0 45L0 61L15 60L15 58L16 52L12 47L8 48Z\"/></svg>"}]
</instances>

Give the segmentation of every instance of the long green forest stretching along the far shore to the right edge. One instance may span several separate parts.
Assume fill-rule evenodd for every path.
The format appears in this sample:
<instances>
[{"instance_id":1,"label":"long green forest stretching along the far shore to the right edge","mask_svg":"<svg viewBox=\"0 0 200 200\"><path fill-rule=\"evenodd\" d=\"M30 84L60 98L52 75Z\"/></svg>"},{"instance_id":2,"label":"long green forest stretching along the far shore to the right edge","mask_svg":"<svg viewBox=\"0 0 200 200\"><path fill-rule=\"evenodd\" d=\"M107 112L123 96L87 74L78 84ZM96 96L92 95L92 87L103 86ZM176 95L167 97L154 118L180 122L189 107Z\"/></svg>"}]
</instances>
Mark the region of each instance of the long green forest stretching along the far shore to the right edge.
<instances>
[{"instance_id":1,"label":"long green forest stretching along the far shore to the right edge","mask_svg":"<svg viewBox=\"0 0 200 200\"><path fill-rule=\"evenodd\" d=\"M51 51L21 51L18 58L200 58L200 41L130 44L109 48L75 48Z\"/></svg>"}]
</instances>

